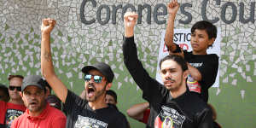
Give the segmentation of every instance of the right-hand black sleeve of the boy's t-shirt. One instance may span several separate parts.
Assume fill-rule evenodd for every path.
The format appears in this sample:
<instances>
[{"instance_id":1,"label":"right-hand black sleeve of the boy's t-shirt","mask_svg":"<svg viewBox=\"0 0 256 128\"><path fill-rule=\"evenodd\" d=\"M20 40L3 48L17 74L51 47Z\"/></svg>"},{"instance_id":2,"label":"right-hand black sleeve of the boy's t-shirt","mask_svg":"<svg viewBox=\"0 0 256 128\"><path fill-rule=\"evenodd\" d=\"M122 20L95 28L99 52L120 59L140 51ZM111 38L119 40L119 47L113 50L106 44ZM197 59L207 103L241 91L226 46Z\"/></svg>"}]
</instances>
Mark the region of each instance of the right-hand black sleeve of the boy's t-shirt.
<instances>
[{"instance_id":1,"label":"right-hand black sleeve of the boy's t-shirt","mask_svg":"<svg viewBox=\"0 0 256 128\"><path fill-rule=\"evenodd\" d=\"M218 73L218 55L209 55L209 60L197 69L201 73L201 81L199 83L205 85L202 88L209 89L214 84Z\"/></svg>"}]
</instances>

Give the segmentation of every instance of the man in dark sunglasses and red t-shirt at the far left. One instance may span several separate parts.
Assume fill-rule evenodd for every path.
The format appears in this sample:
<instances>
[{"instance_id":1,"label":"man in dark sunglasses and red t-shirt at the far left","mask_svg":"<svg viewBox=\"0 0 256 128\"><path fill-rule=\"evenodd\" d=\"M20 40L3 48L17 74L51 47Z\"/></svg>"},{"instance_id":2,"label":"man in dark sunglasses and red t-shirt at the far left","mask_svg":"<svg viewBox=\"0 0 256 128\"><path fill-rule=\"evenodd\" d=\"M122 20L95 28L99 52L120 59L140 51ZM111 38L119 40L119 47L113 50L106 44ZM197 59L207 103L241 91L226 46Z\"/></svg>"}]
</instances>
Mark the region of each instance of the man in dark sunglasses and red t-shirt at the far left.
<instances>
[{"instance_id":1,"label":"man in dark sunglasses and red t-shirt at the far left","mask_svg":"<svg viewBox=\"0 0 256 128\"><path fill-rule=\"evenodd\" d=\"M23 76L9 75L9 102L0 101L0 125L9 128L12 121L24 113L26 107L20 96Z\"/></svg>"}]
</instances>

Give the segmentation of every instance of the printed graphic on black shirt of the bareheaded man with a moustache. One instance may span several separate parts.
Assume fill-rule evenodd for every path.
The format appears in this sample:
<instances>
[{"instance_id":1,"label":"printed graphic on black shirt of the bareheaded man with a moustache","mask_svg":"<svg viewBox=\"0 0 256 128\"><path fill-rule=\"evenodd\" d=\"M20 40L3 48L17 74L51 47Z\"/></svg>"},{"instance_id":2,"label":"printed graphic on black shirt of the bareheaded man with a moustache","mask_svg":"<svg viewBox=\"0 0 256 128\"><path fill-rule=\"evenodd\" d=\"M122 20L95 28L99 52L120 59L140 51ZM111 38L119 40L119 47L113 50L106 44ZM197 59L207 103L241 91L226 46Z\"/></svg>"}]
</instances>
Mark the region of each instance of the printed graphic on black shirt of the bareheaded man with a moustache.
<instances>
[{"instance_id":1,"label":"printed graphic on black shirt of the bareheaded man with a moustache","mask_svg":"<svg viewBox=\"0 0 256 128\"><path fill-rule=\"evenodd\" d=\"M184 115L177 112L173 108L166 106L161 107L160 114L154 120L154 128L182 128L183 121L186 119Z\"/></svg>"}]
</instances>

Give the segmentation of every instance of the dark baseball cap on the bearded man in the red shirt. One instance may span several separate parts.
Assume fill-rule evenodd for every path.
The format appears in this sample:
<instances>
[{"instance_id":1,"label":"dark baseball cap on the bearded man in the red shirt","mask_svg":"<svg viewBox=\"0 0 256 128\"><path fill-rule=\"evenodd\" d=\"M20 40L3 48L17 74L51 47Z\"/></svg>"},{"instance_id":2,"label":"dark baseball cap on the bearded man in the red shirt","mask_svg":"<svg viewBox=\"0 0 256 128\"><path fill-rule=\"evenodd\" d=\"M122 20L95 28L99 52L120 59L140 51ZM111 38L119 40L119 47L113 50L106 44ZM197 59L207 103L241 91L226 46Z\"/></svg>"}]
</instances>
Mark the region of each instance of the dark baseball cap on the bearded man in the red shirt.
<instances>
[{"instance_id":1,"label":"dark baseball cap on the bearded man in the red shirt","mask_svg":"<svg viewBox=\"0 0 256 128\"><path fill-rule=\"evenodd\" d=\"M26 76L25 79L23 79L23 83L21 85L21 91L25 90L27 86L35 85L38 88L44 90L44 79L42 79L39 75L30 75Z\"/></svg>"}]
</instances>

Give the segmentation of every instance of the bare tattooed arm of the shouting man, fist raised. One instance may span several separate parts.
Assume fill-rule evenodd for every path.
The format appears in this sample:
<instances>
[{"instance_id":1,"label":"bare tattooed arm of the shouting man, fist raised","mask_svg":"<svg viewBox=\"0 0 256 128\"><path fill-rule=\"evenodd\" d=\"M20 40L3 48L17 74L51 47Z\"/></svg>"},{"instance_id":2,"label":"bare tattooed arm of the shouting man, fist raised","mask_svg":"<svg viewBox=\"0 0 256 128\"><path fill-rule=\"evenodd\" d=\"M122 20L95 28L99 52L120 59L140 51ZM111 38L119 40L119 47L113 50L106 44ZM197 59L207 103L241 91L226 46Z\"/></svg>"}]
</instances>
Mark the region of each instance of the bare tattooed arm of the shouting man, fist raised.
<instances>
[{"instance_id":1,"label":"bare tattooed arm of the shouting man, fist raised","mask_svg":"<svg viewBox=\"0 0 256 128\"><path fill-rule=\"evenodd\" d=\"M56 96L61 99L61 102L65 102L67 98L67 87L61 82L61 79L58 79L55 74L55 69L53 67L51 52L50 52L50 43L49 37L50 32L55 27L55 20L53 19L44 19L42 20L41 26L41 72L49 83L51 88L55 91Z\"/></svg>"}]
</instances>

